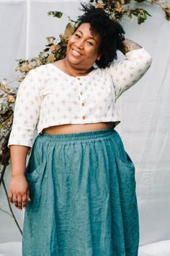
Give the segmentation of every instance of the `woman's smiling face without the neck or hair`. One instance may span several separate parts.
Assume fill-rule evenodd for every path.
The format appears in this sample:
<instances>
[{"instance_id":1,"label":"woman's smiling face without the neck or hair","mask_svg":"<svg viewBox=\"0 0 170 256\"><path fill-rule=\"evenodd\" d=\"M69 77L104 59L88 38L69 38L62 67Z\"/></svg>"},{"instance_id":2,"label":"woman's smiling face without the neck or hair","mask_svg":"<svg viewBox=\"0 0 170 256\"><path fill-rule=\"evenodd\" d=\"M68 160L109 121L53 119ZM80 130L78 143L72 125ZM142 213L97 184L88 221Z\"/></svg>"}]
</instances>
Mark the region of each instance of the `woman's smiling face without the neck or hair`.
<instances>
[{"instance_id":1,"label":"woman's smiling face without the neck or hair","mask_svg":"<svg viewBox=\"0 0 170 256\"><path fill-rule=\"evenodd\" d=\"M100 43L101 36L91 32L89 23L83 23L68 40L66 60L72 67L88 70L101 56Z\"/></svg>"}]
</instances>

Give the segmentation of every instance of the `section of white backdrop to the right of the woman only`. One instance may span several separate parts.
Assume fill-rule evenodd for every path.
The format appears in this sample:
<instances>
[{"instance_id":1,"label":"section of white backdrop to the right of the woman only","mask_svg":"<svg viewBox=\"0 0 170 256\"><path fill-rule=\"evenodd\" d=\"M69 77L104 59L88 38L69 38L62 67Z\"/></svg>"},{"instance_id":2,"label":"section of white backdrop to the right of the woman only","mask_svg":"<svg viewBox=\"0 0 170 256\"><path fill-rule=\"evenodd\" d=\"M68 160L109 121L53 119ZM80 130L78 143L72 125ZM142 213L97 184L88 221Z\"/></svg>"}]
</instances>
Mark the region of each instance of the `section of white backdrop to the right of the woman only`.
<instances>
[{"instance_id":1,"label":"section of white backdrop to the right of the woman only","mask_svg":"<svg viewBox=\"0 0 170 256\"><path fill-rule=\"evenodd\" d=\"M151 69L122 95L120 132L136 166L140 244L170 239L170 22L160 7L142 25L124 22L127 36L146 47Z\"/></svg>"}]
</instances>

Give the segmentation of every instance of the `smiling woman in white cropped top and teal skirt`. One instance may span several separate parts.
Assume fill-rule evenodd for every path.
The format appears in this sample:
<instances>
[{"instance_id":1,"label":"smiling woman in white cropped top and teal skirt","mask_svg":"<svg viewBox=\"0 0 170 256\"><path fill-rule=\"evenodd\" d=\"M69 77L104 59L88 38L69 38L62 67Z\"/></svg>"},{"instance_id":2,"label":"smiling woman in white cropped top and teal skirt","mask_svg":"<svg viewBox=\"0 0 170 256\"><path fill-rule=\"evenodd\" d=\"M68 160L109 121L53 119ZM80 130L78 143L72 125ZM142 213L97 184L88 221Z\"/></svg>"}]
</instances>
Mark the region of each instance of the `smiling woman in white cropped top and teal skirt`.
<instances>
[{"instance_id":1,"label":"smiling woman in white cropped top and teal skirt","mask_svg":"<svg viewBox=\"0 0 170 256\"><path fill-rule=\"evenodd\" d=\"M114 129L115 102L151 56L123 34L102 9L88 6L66 58L32 70L19 86L9 200L26 208L24 256L138 255L135 168ZM117 49L126 59L112 64Z\"/></svg>"}]
</instances>

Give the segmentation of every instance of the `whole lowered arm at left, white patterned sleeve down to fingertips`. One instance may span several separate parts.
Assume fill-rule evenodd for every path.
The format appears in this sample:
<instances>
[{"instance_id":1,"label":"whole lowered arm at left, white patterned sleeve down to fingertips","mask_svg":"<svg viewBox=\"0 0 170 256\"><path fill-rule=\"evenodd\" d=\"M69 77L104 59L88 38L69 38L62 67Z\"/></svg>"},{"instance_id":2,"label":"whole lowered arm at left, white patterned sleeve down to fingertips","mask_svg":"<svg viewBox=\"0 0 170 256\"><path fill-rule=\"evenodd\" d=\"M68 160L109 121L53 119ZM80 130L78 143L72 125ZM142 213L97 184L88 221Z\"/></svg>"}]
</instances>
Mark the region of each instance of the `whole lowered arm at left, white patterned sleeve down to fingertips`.
<instances>
[{"instance_id":1,"label":"whole lowered arm at left, white patterned sleeve down to fingertips","mask_svg":"<svg viewBox=\"0 0 170 256\"><path fill-rule=\"evenodd\" d=\"M9 201L22 210L30 198L29 187L25 177L27 153L32 148L32 139L40 115L42 101L42 74L34 69L19 85L14 106L12 132L9 136L12 163L12 179L9 188ZM13 200L12 200L13 198Z\"/></svg>"}]
</instances>

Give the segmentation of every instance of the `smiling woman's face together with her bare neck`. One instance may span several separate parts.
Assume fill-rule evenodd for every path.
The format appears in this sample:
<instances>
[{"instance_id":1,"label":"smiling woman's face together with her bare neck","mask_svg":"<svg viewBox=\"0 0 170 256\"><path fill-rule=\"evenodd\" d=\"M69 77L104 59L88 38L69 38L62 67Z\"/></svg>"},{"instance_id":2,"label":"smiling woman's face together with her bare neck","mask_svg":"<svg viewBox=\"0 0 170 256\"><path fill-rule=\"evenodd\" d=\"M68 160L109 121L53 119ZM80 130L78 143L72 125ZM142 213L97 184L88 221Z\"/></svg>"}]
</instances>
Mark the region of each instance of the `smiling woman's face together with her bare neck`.
<instances>
[{"instance_id":1,"label":"smiling woman's face together with her bare neck","mask_svg":"<svg viewBox=\"0 0 170 256\"><path fill-rule=\"evenodd\" d=\"M94 62L102 54L99 53L101 35L91 33L89 23L81 24L68 40L66 58L56 61L55 65L72 76L86 75L93 69Z\"/></svg>"}]
</instances>

